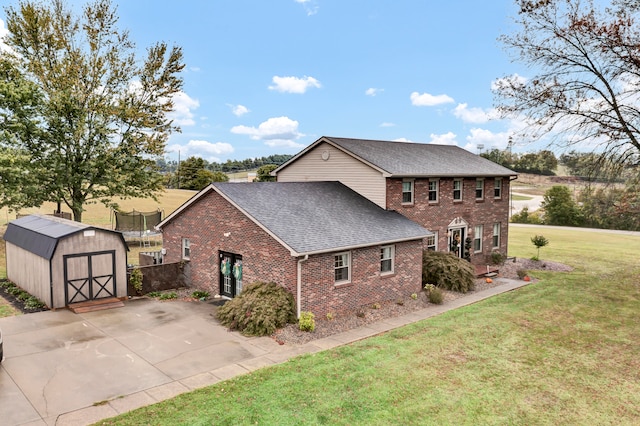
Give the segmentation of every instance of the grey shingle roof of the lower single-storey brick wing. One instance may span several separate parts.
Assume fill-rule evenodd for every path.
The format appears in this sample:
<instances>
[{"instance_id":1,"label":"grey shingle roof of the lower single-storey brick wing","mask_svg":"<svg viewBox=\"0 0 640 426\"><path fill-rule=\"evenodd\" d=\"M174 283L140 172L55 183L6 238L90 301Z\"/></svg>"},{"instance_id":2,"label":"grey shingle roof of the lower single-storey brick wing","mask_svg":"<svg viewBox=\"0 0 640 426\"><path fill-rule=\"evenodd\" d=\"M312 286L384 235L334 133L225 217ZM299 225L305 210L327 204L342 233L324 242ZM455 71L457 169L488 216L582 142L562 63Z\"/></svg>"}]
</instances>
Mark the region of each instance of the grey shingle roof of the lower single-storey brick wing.
<instances>
[{"instance_id":1,"label":"grey shingle roof of the lower single-storey brick wing","mask_svg":"<svg viewBox=\"0 0 640 426\"><path fill-rule=\"evenodd\" d=\"M340 182L212 183L160 222L162 229L211 191L219 193L292 256L418 240L431 232Z\"/></svg>"}]
</instances>

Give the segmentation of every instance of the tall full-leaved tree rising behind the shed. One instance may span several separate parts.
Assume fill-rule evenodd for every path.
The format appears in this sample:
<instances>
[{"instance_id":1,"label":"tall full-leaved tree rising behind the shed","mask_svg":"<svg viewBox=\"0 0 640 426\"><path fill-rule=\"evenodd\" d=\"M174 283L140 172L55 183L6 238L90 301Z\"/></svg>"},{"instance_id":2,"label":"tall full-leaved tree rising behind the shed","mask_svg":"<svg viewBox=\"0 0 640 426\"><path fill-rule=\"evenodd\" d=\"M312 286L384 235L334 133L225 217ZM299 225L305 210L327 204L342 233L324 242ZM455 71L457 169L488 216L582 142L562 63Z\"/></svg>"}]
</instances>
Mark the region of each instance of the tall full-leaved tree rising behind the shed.
<instances>
[{"instance_id":1,"label":"tall full-leaved tree rising behind the shed","mask_svg":"<svg viewBox=\"0 0 640 426\"><path fill-rule=\"evenodd\" d=\"M24 156L20 170L37 180L5 182L4 194L27 188L35 196L0 205L64 202L81 221L86 203L155 198L162 179L154 158L180 130L167 114L182 88L182 50L157 43L138 61L109 0L85 5L79 17L62 0L26 0L6 16L0 147Z\"/></svg>"}]
</instances>

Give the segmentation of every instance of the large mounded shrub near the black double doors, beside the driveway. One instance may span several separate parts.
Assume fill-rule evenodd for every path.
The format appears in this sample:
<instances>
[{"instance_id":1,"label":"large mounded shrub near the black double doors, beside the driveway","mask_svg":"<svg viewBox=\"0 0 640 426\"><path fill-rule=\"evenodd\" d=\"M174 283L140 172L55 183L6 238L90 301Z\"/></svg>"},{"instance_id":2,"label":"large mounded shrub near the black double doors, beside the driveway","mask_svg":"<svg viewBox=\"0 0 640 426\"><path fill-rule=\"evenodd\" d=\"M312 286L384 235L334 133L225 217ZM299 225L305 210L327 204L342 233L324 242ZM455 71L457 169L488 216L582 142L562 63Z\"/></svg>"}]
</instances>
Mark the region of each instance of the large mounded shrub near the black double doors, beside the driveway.
<instances>
[{"instance_id":1,"label":"large mounded shrub near the black double doors, beside the driveway","mask_svg":"<svg viewBox=\"0 0 640 426\"><path fill-rule=\"evenodd\" d=\"M255 282L218 309L218 320L246 336L268 336L296 322L293 295L275 283Z\"/></svg>"}]
</instances>

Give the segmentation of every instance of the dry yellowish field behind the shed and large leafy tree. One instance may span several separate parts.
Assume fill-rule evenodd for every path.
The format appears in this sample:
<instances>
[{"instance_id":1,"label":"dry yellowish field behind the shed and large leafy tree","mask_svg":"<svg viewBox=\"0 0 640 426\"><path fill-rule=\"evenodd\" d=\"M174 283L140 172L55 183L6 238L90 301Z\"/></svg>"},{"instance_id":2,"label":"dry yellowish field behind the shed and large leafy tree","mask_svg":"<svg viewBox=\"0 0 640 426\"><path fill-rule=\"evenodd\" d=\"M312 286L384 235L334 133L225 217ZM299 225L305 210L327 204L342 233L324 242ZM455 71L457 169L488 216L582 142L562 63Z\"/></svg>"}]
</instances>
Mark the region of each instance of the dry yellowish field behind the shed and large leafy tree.
<instances>
[{"instance_id":1,"label":"dry yellowish field behind the shed and large leafy tree","mask_svg":"<svg viewBox=\"0 0 640 426\"><path fill-rule=\"evenodd\" d=\"M157 209L163 210L163 218L171 214L175 209L180 207L185 201L196 194L196 191L169 189L159 194L158 201L152 198L132 198L128 200L116 199L115 201L120 206L120 210L130 212L132 210L148 212L155 211ZM66 206L62 207L62 211L69 211ZM29 208L20 211L20 214L50 214L56 209L54 203L45 203L39 208ZM86 211L83 213L82 222L100 226L102 228L114 229L115 218L109 208L104 204L87 204L85 206ZM6 207L0 209L0 236L4 235L4 231L7 229L7 223L16 218L15 212L10 212ZM157 239L161 241L161 239ZM139 245L131 244L128 255L128 263L138 264L138 253L140 251L149 250L149 248L141 248ZM160 250L159 246L154 246L151 250ZM6 257L5 257L5 245L4 240L0 239L0 278L6 278Z\"/></svg>"}]
</instances>

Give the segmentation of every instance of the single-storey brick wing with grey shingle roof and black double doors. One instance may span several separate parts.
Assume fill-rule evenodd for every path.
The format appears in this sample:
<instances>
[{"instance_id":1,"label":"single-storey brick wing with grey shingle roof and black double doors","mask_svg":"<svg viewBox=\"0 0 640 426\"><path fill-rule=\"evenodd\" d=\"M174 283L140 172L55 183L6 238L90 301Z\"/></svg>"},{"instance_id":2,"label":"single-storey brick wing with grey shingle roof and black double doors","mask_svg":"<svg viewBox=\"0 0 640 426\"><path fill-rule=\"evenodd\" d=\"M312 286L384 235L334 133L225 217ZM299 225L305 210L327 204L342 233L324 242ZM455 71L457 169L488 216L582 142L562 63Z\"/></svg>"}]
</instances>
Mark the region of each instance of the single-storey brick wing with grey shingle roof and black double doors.
<instances>
[{"instance_id":1,"label":"single-storey brick wing with grey shingle roof and black double doors","mask_svg":"<svg viewBox=\"0 0 640 426\"><path fill-rule=\"evenodd\" d=\"M420 291L431 235L336 181L213 183L157 228L194 287L232 298L272 281L321 316Z\"/></svg>"}]
</instances>

